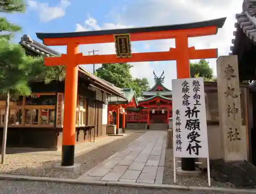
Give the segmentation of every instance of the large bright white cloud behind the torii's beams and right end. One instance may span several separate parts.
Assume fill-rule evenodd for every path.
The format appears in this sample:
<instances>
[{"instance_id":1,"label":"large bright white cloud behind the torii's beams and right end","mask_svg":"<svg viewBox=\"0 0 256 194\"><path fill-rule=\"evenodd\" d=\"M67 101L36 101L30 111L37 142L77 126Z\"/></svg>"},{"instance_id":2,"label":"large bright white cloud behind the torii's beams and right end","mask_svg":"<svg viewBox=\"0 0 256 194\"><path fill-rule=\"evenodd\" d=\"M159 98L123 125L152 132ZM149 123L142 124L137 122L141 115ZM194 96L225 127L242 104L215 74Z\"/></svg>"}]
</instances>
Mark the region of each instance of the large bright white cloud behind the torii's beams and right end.
<instances>
[{"instance_id":1,"label":"large bright white cloud behind the torii's beams and right end","mask_svg":"<svg viewBox=\"0 0 256 194\"><path fill-rule=\"evenodd\" d=\"M220 3L221 2L221 3ZM127 3L121 13L115 15L115 23L103 23L99 26L97 20L89 17L84 25L77 24L76 31L118 29L128 27L160 26L174 25L177 23L188 23L227 17L225 25L219 30L218 35L197 37L189 39L189 46L195 46L196 49L218 48L219 56L228 55L231 39L233 37L235 15L242 10L242 1L221 1L221 0L140 0L131 4ZM169 47L175 47L175 41L159 40L142 42L138 48L137 43L133 47L133 52L140 49L139 52L148 50L168 51ZM114 43L82 45L80 51L88 55L88 51L99 50L99 54L114 54ZM143 49L143 51L141 51ZM209 59L210 66L216 74L216 59ZM161 75L162 70L165 72L165 85L170 88L172 79L176 78L175 61L165 62L145 62L133 63L132 74L134 77L146 77L151 85L154 83L153 70L157 75ZM87 69L92 70L92 65L87 65Z\"/></svg>"}]
</instances>

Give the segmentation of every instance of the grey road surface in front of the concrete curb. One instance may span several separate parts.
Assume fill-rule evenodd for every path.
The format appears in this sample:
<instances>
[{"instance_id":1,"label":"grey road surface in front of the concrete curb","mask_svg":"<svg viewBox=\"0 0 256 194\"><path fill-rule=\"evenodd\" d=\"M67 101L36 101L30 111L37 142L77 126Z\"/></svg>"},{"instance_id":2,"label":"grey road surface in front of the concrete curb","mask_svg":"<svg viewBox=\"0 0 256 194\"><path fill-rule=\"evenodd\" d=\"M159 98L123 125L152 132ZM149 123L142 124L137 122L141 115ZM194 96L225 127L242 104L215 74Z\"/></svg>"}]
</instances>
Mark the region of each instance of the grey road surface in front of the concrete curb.
<instances>
[{"instance_id":1,"label":"grey road surface in front of the concrete curb","mask_svg":"<svg viewBox=\"0 0 256 194\"><path fill-rule=\"evenodd\" d=\"M57 184L49 182L0 181L2 194L220 194L211 191L183 191L165 189L143 189L131 187L108 187L75 184ZM223 192L222 192L223 193Z\"/></svg>"}]
</instances>

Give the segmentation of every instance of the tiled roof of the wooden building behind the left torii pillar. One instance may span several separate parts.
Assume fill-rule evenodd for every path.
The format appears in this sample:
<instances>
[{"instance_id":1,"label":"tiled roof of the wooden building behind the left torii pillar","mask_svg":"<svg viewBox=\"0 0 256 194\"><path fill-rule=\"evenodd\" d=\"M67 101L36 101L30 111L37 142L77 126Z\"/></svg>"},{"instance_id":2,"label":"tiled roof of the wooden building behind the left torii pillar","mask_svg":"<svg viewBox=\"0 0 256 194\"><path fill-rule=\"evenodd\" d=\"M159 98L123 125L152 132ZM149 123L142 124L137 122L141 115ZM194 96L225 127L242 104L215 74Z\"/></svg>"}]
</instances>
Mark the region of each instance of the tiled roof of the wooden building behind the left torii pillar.
<instances>
[{"instance_id":1,"label":"tiled roof of the wooden building behind the left torii pillar","mask_svg":"<svg viewBox=\"0 0 256 194\"><path fill-rule=\"evenodd\" d=\"M51 57L51 56L60 56L61 54L52 50L51 48L48 48L44 44L41 44L35 40L32 40L27 34L23 35L22 38L19 41L20 45L23 45L27 47L29 50L42 55L44 57ZM98 78L97 76L94 76L91 74L88 70L84 69L83 67L79 66L79 71L82 72L84 75L90 77L91 79L94 79L104 86L111 88L113 91L122 94L121 89L118 87L115 87L114 84L111 84L103 79Z\"/></svg>"}]
</instances>

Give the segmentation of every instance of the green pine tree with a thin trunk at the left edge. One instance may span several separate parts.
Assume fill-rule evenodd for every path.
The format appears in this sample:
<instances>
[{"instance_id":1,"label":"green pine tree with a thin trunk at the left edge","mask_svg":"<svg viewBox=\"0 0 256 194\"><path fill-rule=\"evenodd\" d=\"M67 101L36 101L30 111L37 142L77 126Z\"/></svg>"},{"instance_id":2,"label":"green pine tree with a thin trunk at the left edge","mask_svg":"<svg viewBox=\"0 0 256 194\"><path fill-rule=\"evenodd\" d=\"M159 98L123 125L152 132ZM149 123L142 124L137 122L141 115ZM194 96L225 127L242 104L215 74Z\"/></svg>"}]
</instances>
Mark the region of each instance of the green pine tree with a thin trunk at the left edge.
<instances>
[{"instance_id":1,"label":"green pine tree with a thin trunk at the left edge","mask_svg":"<svg viewBox=\"0 0 256 194\"><path fill-rule=\"evenodd\" d=\"M0 12L13 13L25 11L25 4L23 0L0 0ZM15 44L10 44L8 41L11 39L13 32L21 30L20 27L9 22L5 17L0 17L0 94L6 93L6 109L5 109L5 126L3 133L2 144L2 160L5 162L6 140L7 140L7 126L8 126L8 113L10 103L10 93L14 91L23 91L28 93L30 90L26 87L26 80L22 79L17 81L21 74L16 75L16 72L25 70L27 64L32 62L31 58L24 61L22 55L22 48ZM25 53L25 52L24 52ZM17 54L17 55L16 55ZM19 62L22 62L19 64ZM15 67L15 64L19 64ZM24 73L26 70L24 71ZM25 76L27 76L26 72ZM12 83L16 83L12 85ZM23 88L25 86L25 88Z\"/></svg>"}]
</instances>

